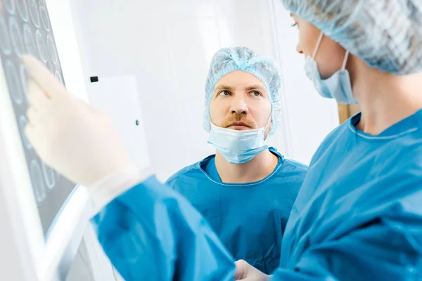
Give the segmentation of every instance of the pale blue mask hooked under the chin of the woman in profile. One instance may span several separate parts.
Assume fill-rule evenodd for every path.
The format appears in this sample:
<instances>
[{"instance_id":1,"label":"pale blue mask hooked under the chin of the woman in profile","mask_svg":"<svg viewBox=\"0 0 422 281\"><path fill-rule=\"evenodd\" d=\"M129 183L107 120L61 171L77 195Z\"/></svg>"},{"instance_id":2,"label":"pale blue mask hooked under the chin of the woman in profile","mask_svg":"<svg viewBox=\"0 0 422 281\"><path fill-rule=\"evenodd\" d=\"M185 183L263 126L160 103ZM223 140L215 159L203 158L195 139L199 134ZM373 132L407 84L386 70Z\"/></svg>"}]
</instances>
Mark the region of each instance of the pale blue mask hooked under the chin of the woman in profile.
<instances>
[{"instance_id":1,"label":"pale blue mask hooked under the chin of the woman in profile","mask_svg":"<svg viewBox=\"0 0 422 281\"><path fill-rule=\"evenodd\" d=\"M349 72L345 69L347 58L349 57L349 51L346 51L341 70L338 70L338 72L335 72L327 79L321 79L318 65L316 65L315 55L318 51L319 45L321 44L322 37L324 37L324 34L321 32L314 49L314 54L312 57L307 55L305 60L305 72L307 77L314 82L316 91L318 91L318 93L324 98L335 98L338 103L346 105L357 103L353 97Z\"/></svg>"}]
</instances>

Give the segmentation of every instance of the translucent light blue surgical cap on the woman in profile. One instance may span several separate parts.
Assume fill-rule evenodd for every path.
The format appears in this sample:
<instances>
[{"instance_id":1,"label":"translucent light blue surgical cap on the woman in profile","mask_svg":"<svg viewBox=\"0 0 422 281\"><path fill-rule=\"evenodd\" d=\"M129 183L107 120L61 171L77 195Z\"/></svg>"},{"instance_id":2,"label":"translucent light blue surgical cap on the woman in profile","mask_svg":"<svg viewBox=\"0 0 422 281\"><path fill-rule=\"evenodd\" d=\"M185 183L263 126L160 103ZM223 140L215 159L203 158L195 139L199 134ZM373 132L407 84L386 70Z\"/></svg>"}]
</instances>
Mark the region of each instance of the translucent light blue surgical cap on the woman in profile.
<instances>
[{"instance_id":1,"label":"translucent light blue surgical cap on the woman in profile","mask_svg":"<svg viewBox=\"0 0 422 281\"><path fill-rule=\"evenodd\" d=\"M281 0L371 67L422 71L421 0Z\"/></svg>"}]
</instances>

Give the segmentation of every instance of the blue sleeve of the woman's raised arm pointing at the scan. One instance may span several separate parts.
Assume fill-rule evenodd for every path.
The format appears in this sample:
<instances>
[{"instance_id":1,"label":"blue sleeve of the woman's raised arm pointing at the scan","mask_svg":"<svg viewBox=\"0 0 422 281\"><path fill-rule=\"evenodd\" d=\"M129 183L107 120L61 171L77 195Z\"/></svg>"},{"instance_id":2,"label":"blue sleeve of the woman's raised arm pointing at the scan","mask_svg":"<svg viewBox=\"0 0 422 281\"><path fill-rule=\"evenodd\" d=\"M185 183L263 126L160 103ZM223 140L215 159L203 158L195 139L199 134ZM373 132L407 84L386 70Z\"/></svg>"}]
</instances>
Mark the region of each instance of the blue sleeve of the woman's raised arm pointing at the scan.
<instances>
[{"instance_id":1,"label":"blue sleeve of the woman's raised arm pointing at the scan","mask_svg":"<svg viewBox=\"0 0 422 281\"><path fill-rule=\"evenodd\" d=\"M205 219L155 177L124 192L92 222L125 280L234 280L234 259Z\"/></svg>"}]
</instances>

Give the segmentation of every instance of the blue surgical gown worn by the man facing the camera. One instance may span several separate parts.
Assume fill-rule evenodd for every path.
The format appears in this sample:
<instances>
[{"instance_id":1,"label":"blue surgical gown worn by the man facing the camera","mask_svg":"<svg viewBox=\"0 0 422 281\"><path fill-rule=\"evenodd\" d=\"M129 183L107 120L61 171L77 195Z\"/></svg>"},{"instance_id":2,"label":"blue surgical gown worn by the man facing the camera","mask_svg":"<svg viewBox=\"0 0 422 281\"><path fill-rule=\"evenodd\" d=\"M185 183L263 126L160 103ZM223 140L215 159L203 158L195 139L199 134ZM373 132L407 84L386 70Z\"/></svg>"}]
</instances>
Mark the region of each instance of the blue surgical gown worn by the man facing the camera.
<instances>
[{"instance_id":1,"label":"blue surgical gown worn by the man facing the camera","mask_svg":"<svg viewBox=\"0 0 422 281\"><path fill-rule=\"evenodd\" d=\"M307 166L279 158L274 171L254 183L222 183L215 155L187 166L167 180L207 219L234 256L264 273L280 263L281 240Z\"/></svg>"}]
</instances>

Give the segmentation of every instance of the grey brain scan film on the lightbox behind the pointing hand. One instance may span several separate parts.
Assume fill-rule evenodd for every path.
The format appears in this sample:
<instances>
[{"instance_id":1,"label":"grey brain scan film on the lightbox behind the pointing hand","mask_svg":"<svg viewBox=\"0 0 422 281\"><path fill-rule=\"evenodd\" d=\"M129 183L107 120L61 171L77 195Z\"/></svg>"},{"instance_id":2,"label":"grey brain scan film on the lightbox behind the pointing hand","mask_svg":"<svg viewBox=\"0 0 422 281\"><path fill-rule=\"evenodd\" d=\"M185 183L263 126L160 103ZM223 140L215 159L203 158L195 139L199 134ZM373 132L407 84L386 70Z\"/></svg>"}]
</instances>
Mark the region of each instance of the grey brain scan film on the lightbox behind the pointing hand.
<instances>
[{"instance_id":1,"label":"grey brain scan film on the lightbox behind the pointing hand","mask_svg":"<svg viewBox=\"0 0 422 281\"><path fill-rule=\"evenodd\" d=\"M0 67L19 129L20 143L16 145L25 152L25 172L30 175L42 229L47 235L76 185L42 162L25 136L28 72L21 59L26 53L44 63L65 85L45 0L0 0Z\"/></svg>"}]
</instances>

